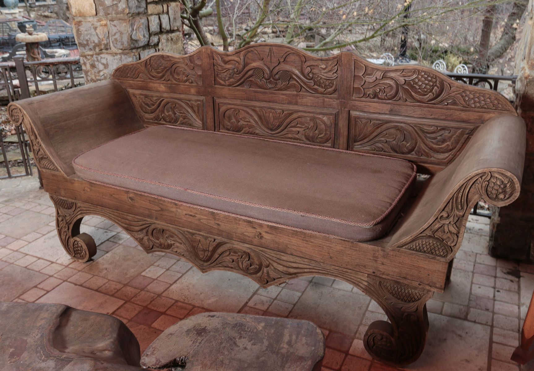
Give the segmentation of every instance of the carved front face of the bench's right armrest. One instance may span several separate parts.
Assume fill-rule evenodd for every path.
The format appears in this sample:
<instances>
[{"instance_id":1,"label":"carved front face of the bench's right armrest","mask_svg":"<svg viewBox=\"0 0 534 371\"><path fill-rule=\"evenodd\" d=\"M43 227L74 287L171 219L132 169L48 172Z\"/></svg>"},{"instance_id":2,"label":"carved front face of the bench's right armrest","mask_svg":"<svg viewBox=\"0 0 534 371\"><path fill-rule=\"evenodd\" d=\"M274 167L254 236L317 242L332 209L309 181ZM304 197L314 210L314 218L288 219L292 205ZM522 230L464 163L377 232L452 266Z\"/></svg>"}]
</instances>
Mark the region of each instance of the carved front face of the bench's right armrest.
<instances>
[{"instance_id":1,"label":"carved front face of the bench's right armrest","mask_svg":"<svg viewBox=\"0 0 534 371\"><path fill-rule=\"evenodd\" d=\"M423 231L401 243L399 248L449 261L460 248L466 219L478 200L504 206L516 196L516 185L511 177L498 171L478 173L450 196L444 208Z\"/></svg>"}]
</instances>

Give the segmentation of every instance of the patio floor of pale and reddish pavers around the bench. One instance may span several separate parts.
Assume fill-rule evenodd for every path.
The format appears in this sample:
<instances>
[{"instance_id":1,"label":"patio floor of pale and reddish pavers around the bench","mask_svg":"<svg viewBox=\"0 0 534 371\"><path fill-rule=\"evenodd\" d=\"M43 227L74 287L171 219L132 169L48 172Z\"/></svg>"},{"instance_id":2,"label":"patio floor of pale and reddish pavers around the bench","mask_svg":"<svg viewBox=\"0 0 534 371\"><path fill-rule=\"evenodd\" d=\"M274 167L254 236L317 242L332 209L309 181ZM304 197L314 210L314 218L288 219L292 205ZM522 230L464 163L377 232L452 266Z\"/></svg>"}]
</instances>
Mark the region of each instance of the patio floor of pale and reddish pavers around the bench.
<instances>
[{"instance_id":1,"label":"patio floor of pale and reddish pavers around the bench","mask_svg":"<svg viewBox=\"0 0 534 371\"><path fill-rule=\"evenodd\" d=\"M324 277L262 289L238 274L201 274L161 253L147 255L120 228L99 217L82 231L98 244L88 263L72 261L54 227L54 208L36 178L0 181L0 300L63 303L113 314L144 350L180 319L206 311L280 315L324 329L323 370L389 370L371 360L362 338L378 305L347 283ZM428 302L430 329L413 370L519 370L509 360L534 290L534 266L487 255L489 219L471 217L452 281ZM534 369L534 362L522 370Z\"/></svg>"}]
</instances>

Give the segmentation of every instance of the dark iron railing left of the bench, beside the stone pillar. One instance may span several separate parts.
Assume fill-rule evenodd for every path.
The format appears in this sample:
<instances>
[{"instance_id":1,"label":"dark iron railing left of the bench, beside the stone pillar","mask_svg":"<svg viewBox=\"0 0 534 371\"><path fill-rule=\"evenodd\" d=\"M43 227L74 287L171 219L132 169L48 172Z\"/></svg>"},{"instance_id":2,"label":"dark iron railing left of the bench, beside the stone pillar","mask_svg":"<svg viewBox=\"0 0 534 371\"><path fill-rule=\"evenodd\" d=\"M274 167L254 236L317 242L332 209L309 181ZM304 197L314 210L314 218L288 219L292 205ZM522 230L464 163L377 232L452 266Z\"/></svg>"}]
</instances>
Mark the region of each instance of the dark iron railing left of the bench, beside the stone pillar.
<instances>
[{"instance_id":1,"label":"dark iron railing left of the bench, beside the stone pillar","mask_svg":"<svg viewBox=\"0 0 534 371\"><path fill-rule=\"evenodd\" d=\"M66 84L65 84L66 83ZM44 93L73 88L83 83L80 58L54 58L36 62L25 61L22 56L11 62L0 63L0 93L5 92L9 102L38 96ZM21 126L15 127L16 141L6 141L0 135L0 150L5 168L0 179L33 175L29 143ZM13 148L18 146L18 149ZM20 152L20 156L18 156ZM9 153L18 157L10 159ZM13 173L10 162L22 162L23 172Z\"/></svg>"}]
</instances>

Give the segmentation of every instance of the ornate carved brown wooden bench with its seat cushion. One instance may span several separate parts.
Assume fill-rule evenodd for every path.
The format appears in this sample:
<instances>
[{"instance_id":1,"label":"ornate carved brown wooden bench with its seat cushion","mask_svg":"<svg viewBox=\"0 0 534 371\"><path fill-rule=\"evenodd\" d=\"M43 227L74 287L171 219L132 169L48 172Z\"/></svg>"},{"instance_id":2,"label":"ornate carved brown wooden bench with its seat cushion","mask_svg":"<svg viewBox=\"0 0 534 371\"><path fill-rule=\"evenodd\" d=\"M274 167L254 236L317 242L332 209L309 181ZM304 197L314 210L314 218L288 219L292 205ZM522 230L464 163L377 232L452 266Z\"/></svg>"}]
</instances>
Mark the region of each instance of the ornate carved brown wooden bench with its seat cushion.
<instances>
[{"instance_id":1,"label":"ornate carved brown wooden bench with its seat cushion","mask_svg":"<svg viewBox=\"0 0 534 371\"><path fill-rule=\"evenodd\" d=\"M9 115L74 259L95 254L80 223L98 215L202 272L349 282L388 315L364 345L391 365L420 356L470 209L517 198L525 151L497 92L278 44L155 53Z\"/></svg>"}]
</instances>

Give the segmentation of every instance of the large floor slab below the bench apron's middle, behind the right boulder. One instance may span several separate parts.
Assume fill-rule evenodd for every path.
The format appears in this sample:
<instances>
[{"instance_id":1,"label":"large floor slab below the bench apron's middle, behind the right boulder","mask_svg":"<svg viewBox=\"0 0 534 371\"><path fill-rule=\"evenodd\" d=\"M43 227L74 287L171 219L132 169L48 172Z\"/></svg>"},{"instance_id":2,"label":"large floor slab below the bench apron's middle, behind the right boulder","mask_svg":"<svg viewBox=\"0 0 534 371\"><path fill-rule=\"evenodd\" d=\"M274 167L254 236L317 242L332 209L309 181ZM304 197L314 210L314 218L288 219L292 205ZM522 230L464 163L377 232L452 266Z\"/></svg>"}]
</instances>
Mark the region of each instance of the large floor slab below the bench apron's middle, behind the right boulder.
<instances>
[{"instance_id":1,"label":"large floor slab below the bench apron's middle, behind the right boulder","mask_svg":"<svg viewBox=\"0 0 534 371\"><path fill-rule=\"evenodd\" d=\"M190 269L163 295L212 311L237 312L257 288L257 283L237 273L202 274Z\"/></svg>"}]
</instances>

